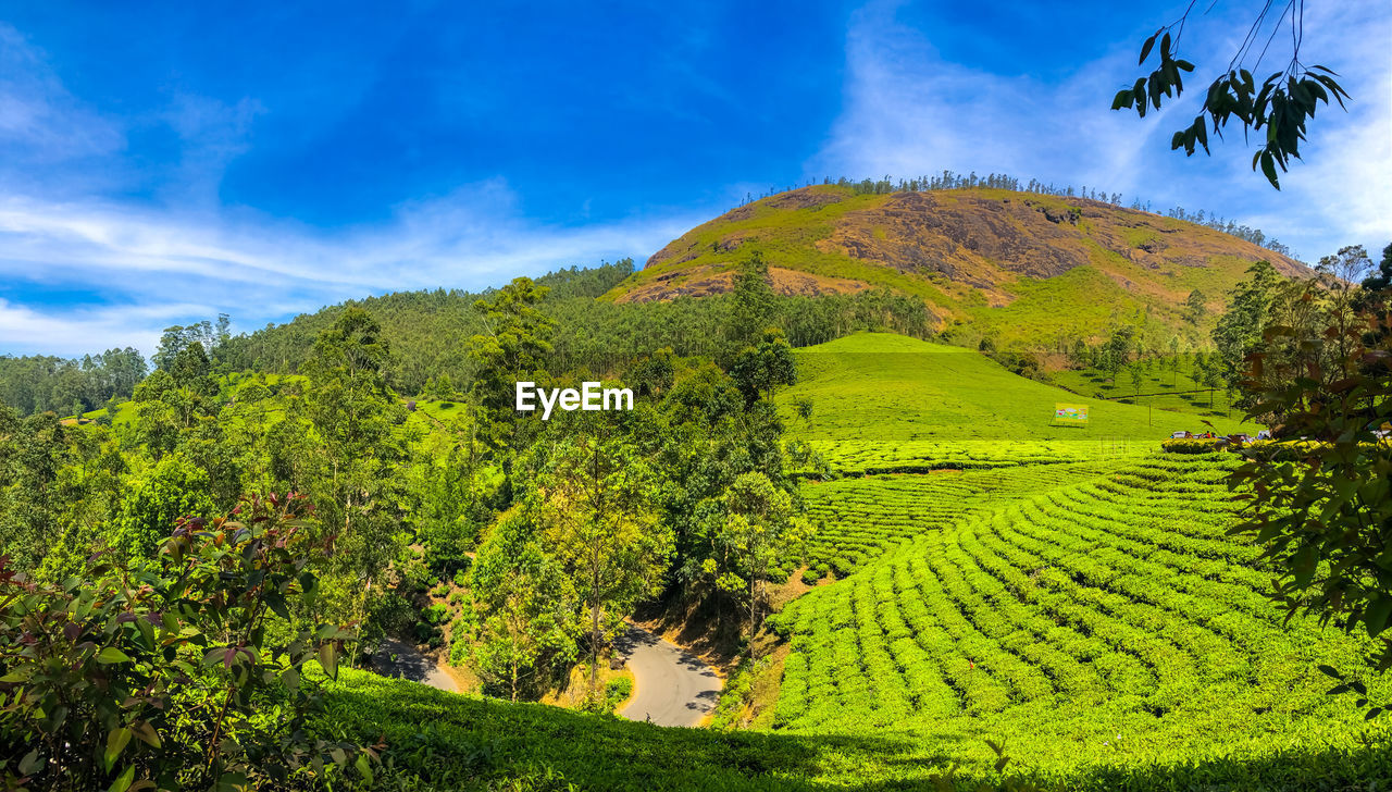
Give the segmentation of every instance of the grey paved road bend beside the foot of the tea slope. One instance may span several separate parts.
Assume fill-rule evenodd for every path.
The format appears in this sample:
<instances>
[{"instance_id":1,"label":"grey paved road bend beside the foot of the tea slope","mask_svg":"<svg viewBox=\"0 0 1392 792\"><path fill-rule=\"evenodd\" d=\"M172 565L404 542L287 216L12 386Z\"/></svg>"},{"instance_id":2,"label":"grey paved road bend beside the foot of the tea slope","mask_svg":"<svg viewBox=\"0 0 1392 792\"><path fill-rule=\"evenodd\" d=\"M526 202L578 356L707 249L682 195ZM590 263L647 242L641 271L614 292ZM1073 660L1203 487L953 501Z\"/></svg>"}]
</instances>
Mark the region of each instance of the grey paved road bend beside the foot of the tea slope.
<instances>
[{"instance_id":1,"label":"grey paved road bend beside the foot of the tea slope","mask_svg":"<svg viewBox=\"0 0 1392 792\"><path fill-rule=\"evenodd\" d=\"M635 679L633 700L619 715L660 727L695 727L715 708L720 676L695 654L632 625L614 647Z\"/></svg>"}]
</instances>

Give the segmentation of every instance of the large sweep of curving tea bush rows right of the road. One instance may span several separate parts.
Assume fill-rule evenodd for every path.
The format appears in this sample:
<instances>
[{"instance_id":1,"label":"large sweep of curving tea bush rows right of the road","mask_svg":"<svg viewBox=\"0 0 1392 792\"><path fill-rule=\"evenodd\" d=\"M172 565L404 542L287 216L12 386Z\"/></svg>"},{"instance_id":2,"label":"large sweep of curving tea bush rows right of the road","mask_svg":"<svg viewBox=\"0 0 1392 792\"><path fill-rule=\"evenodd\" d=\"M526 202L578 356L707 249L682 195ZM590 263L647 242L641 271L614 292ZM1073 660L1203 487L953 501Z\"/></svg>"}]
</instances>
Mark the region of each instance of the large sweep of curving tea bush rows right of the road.
<instances>
[{"instance_id":1,"label":"large sweep of curving tea bush rows right of the road","mask_svg":"<svg viewBox=\"0 0 1392 792\"><path fill-rule=\"evenodd\" d=\"M1022 750L1070 763L1101 750L1109 731L1129 732L1128 750L1147 756L1180 745L1203 754L1349 720L1314 665L1357 667L1366 647L1308 621L1282 626L1257 550L1226 534L1236 508L1226 464L1157 458L1054 489L1047 475L1002 482L1038 494L972 508L809 592L775 621L792 647L775 724L941 732L992 722L1011 735L1050 732L1023 736ZM984 483L952 484L973 482ZM862 497L828 491L816 508L849 515L838 525L873 521L873 504L899 502L899 516L878 519L878 533L846 529L852 548L883 547L913 515L942 526L954 498L970 500L948 483L857 484ZM915 505L924 493L937 502Z\"/></svg>"}]
</instances>

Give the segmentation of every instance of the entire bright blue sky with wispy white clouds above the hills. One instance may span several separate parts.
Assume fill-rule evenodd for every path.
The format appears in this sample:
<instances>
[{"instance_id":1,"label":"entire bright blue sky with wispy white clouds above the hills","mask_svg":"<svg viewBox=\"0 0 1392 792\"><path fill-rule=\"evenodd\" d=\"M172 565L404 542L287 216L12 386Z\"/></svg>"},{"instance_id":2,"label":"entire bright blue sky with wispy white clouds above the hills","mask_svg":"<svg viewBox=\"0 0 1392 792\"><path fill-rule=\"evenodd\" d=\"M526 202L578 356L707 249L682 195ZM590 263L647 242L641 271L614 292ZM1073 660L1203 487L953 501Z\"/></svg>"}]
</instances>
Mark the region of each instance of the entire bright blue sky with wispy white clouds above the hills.
<instances>
[{"instance_id":1,"label":"entire bright blue sky with wispy white clouds above the hills","mask_svg":"<svg viewBox=\"0 0 1392 792\"><path fill-rule=\"evenodd\" d=\"M1306 10L1304 60L1356 102L1321 111L1276 193L1237 138L1168 150L1199 92L1158 118L1108 110L1186 4L10 4L0 354L149 354L219 312L253 330L642 263L749 192L824 175L1008 171L1218 212L1307 260L1381 251L1392 10ZM1190 24L1200 74L1254 8Z\"/></svg>"}]
</instances>

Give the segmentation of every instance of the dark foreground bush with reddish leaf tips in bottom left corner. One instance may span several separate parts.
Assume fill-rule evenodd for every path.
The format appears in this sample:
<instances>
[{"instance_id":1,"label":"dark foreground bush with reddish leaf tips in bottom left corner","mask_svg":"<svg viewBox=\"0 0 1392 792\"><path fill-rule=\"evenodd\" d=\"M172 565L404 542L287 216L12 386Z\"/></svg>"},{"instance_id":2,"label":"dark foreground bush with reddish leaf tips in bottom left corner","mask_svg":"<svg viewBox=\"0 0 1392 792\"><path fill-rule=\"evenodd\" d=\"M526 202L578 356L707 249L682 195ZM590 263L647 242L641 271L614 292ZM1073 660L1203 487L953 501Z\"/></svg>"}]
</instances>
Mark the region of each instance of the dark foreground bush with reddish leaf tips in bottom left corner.
<instances>
[{"instance_id":1,"label":"dark foreground bush with reddish leaf tips in bottom left corner","mask_svg":"<svg viewBox=\"0 0 1392 792\"><path fill-rule=\"evenodd\" d=\"M93 557L40 586L0 557L0 781L8 789L245 789L370 781L370 749L306 734L352 635L315 604L298 496L178 522L155 561ZM274 639L271 636L276 636Z\"/></svg>"}]
</instances>

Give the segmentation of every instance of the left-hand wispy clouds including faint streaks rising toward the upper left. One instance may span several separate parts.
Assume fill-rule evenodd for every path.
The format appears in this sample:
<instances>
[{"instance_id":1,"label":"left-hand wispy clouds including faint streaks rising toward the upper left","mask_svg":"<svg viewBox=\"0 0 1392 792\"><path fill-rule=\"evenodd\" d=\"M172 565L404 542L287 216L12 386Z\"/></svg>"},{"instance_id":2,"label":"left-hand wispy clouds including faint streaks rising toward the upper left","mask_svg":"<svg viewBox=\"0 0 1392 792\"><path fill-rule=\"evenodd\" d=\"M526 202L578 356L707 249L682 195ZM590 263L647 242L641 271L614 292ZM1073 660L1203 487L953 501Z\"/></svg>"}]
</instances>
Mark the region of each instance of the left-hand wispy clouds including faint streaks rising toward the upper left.
<instances>
[{"instance_id":1,"label":"left-hand wispy clouds including faint streaks rising toward the upper left","mask_svg":"<svg viewBox=\"0 0 1392 792\"><path fill-rule=\"evenodd\" d=\"M413 288L484 288L601 259L646 256L702 217L607 224L529 220L504 180L327 231L219 202L264 109L177 93L153 118L180 141L155 199L114 198L124 124L75 99L42 50L0 24L0 354L153 352L160 330L234 317L251 330L322 305ZM100 157L100 167L92 159ZM139 170L134 163L129 171ZM143 177L141 177L143 178ZM56 188L54 185L61 185ZM47 305L25 295L97 294Z\"/></svg>"}]
</instances>

